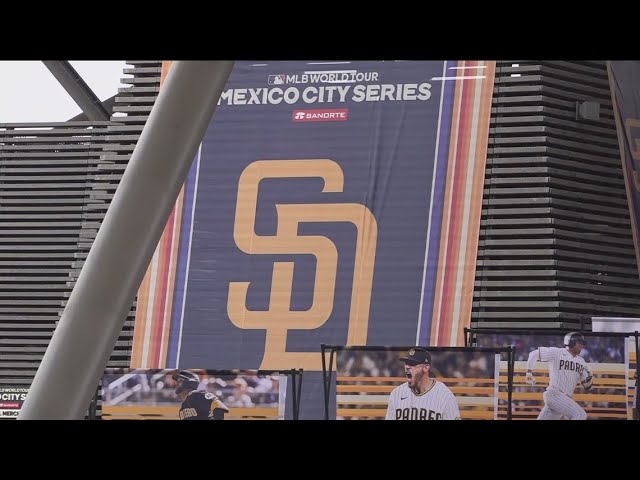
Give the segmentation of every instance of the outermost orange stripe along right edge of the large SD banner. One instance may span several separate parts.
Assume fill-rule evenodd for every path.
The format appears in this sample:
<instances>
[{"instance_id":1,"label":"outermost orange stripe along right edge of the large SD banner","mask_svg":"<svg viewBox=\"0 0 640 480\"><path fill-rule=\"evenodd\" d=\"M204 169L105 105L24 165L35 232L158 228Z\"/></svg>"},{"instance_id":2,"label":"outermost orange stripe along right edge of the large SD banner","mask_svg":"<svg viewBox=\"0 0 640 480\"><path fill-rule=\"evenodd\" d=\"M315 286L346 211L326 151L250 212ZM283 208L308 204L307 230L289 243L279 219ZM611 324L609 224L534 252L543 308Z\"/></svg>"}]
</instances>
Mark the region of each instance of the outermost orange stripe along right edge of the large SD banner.
<instances>
[{"instance_id":1,"label":"outermost orange stripe along right edge of the large SD banner","mask_svg":"<svg viewBox=\"0 0 640 480\"><path fill-rule=\"evenodd\" d=\"M477 115L476 151L474 154L475 169L471 178L471 204L469 209L469 226L467 229L467 252L462 280L462 303L460 306L460 318L463 320L458 325L456 333L456 345L464 345L464 329L471 325L471 309L473 306L473 288L476 275L476 261L478 258L478 237L480 217L482 212L482 192L484 190L484 176L487 163L487 147L489 143L489 123L491 98L493 97L493 81L495 78L495 62L485 62L483 69L486 78L482 80L480 93L480 109L474 111ZM478 80L480 82L480 80ZM454 332L455 333L455 332Z\"/></svg>"}]
</instances>

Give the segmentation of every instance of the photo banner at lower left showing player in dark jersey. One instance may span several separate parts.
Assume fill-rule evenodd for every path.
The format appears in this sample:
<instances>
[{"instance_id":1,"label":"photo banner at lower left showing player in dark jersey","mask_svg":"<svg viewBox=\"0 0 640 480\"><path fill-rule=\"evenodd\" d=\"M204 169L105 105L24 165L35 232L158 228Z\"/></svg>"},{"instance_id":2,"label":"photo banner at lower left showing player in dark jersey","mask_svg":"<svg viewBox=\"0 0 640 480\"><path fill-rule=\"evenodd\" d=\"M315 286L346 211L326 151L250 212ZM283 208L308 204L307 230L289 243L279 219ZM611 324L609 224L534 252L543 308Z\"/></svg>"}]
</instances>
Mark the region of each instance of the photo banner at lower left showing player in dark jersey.
<instances>
[{"instance_id":1,"label":"photo banner at lower left showing player in dark jersey","mask_svg":"<svg viewBox=\"0 0 640 480\"><path fill-rule=\"evenodd\" d=\"M107 369L102 376L102 419L209 420L211 404L214 402L215 406L218 400L228 410L225 420L284 418L286 375L197 369L188 372L194 381L185 388L178 383L183 379L176 370Z\"/></svg>"}]
</instances>

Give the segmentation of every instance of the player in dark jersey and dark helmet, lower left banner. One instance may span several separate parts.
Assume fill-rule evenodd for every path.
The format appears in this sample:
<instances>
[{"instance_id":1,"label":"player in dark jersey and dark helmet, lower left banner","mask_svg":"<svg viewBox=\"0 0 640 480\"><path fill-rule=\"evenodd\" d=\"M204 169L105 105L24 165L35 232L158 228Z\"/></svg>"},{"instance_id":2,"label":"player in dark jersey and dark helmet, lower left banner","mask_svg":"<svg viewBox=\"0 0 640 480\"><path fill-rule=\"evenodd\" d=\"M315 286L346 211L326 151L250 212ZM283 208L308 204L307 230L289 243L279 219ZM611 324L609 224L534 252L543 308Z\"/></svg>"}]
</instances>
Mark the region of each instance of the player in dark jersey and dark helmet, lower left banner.
<instances>
[{"instance_id":1,"label":"player in dark jersey and dark helmet, lower left banner","mask_svg":"<svg viewBox=\"0 0 640 480\"><path fill-rule=\"evenodd\" d=\"M198 375L180 370L172 378L177 383L176 394L182 400L180 420L224 420L229 409L213 393L198 390Z\"/></svg>"}]
</instances>

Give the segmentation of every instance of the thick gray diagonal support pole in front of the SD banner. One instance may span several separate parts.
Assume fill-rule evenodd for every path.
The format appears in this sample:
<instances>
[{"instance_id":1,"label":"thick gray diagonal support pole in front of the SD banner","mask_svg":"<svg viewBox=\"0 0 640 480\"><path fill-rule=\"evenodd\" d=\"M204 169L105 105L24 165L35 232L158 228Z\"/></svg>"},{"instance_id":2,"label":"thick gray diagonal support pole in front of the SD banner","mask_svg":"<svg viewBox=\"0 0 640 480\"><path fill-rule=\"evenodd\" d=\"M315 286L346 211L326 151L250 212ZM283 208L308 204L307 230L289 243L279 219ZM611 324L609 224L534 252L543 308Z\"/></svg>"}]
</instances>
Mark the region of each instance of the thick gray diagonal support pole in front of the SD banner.
<instances>
[{"instance_id":1,"label":"thick gray diagonal support pole in front of the SD banner","mask_svg":"<svg viewBox=\"0 0 640 480\"><path fill-rule=\"evenodd\" d=\"M84 418L232 67L173 64L19 420Z\"/></svg>"}]
</instances>

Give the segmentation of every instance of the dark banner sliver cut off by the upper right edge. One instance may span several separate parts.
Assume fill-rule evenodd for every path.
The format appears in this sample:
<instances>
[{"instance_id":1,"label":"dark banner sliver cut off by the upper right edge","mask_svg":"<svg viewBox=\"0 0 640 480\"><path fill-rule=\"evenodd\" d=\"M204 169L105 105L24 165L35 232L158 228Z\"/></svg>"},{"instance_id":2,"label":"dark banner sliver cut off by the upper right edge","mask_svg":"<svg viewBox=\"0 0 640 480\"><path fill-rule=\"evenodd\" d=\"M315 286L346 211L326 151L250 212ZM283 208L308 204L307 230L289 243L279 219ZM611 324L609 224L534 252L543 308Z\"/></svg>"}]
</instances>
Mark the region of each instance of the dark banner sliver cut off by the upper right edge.
<instances>
[{"instance_id":1,"label":"dark banner sliver cut off by the upper right edge","mask_svg":"<svg viewBox=\"0 0 640 480\"><path fill-rule=\"evenodd\" d=\"M640 62L607 62L607 67L640 272Z\"/></svg>"}]
</instances>

